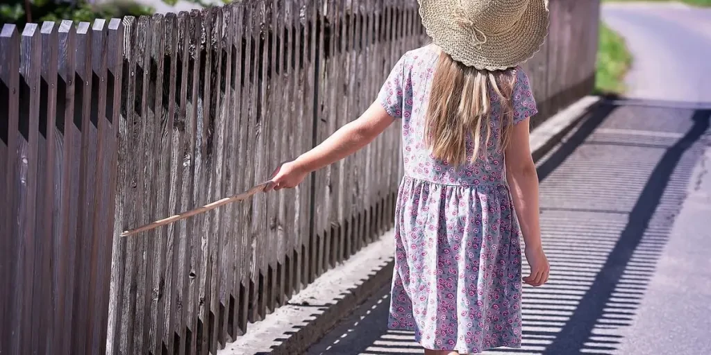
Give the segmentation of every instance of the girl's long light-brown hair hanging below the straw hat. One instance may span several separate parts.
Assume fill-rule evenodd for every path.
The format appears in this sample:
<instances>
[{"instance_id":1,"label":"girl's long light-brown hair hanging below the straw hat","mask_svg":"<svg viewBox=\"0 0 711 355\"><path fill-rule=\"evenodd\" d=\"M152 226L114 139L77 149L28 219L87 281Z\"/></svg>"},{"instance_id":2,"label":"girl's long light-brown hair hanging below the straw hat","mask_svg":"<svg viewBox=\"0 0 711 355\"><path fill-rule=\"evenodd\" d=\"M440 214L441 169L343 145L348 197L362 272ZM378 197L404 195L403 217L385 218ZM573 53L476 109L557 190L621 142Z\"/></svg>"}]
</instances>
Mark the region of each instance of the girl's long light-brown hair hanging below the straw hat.
<instances>
[{"instance_id":1,"label":"girl's long light-brown hair hanging below the straw hat","mask_svg":"<svg viewBox=\"0 0 711 355\"><path fill-rule=\"evenodd\" d=\"M467 163L468 134L474 141L471 159L476 160L479 156L482 143L486 156L486 147L491 139L489 89L493 89L501 105L501 131L496 144L505 148L513 126L511 95L514 80L514 70L477 70L456 62L441 51L432 80L424 132L434 158L452 165ZM482 133L485 133L483 140Z\"/></svg>"}]
</instances>

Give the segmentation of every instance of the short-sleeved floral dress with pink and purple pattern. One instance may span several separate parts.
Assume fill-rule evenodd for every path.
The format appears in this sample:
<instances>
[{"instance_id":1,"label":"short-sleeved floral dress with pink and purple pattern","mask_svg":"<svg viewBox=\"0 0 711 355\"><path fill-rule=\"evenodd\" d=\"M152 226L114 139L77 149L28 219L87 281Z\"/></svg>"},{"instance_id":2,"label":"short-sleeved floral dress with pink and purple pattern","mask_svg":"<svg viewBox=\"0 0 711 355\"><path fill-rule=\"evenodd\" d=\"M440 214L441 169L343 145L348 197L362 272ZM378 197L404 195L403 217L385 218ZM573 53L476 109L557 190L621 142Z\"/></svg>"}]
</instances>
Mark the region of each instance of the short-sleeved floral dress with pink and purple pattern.
<instances>
[{"instance_id":1,"label":"short-sleeved floral dress with pink and purple pattern","mask_svg":"<svg viewBox=\"0 0 711 355\"><path fill-rule=\"evenodd\" d=\"M439 53L412 50L387 77L378 101L401 119L402 178L395 211L390 329L415 331L427 349L476 354L521 344L520 228L496 144L487 160L454 167L424 143L429 89ZM514 124L537 113L528 77L515 68ZM492 94L492 137L501 124ZM473 151L471 141L467 145ZM482 147L483 148L483 147ZM471 154L471 153L470 153Z\"/></svg>"}]
</instances>

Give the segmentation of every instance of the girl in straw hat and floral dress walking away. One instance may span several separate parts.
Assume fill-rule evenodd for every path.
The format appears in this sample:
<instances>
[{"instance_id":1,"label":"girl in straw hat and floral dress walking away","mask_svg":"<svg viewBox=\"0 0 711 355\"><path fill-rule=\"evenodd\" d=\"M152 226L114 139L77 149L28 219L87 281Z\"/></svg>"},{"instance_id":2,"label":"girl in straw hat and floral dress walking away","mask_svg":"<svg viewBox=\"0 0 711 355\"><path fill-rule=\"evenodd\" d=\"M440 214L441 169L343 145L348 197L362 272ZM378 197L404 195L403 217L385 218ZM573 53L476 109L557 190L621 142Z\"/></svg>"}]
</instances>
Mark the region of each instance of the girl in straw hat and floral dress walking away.
<instances>
[{"instance_id":1,"label":"girl in straw hat and floral dress walking away","mask_svg":"<svg viewBox=\"0 0 711 355\"><path fill-rule=\"evenodd\" d=\"M298 185L400 121L405 177L388 326L414 330L427 355L517 348L521 234L523 281L540 286L549 272L528 146L537 109L518 67L547 35L547 0L419 5L433 44L405 53L363 116L282 165L267 189Z\"/></svg>"}]
</instances>

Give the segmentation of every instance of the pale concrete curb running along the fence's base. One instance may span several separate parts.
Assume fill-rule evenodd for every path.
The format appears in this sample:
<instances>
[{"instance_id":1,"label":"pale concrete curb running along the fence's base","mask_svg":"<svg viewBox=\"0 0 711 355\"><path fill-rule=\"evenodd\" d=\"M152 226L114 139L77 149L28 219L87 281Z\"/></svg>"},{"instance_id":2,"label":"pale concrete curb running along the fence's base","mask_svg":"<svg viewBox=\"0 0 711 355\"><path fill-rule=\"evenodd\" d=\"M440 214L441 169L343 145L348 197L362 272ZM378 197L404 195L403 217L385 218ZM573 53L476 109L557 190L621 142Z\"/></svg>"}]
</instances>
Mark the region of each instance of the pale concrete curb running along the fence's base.
<instances>
[{"instance_id":1,"label":"pale concrete curb running along the fence's base","mask_svg":"<svg viewBox=\"0 0 711 355\"><path fill-rule=\"evenodd\" d=\"M560 143L592 112L599 97L584 97L536 127L530 135L534 160ZM345 263L317 278L289 304L279 307L218 355L304 354L348 317L392 276L392 231L365 246Z\"/></svg>"}]
</instances>

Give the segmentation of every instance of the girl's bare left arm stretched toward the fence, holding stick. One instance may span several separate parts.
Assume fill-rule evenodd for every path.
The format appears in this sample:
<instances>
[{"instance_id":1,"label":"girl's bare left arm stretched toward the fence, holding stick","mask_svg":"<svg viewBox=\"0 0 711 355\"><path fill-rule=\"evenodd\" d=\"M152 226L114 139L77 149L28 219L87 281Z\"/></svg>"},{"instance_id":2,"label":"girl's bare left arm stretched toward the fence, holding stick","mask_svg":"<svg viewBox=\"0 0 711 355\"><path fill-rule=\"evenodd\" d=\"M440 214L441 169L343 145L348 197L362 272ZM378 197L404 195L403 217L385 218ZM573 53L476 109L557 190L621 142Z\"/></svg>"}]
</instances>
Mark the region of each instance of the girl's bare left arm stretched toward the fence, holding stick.
<instances>
[{"instance_id":1,"label":"girl's bare left arm stretched toward the fence, holding stick","mask_svg":"<svg viewBox=\"0 0 711 355\"><path fill-rule=\"evenodd\" d=\"M265 190L296 187L306 174L336 163L368 145L394 120L381 104L374 102L363 115L342 126L319 146L282 165Z\"/></svg>"}]
</instances>

